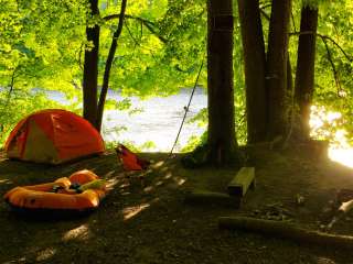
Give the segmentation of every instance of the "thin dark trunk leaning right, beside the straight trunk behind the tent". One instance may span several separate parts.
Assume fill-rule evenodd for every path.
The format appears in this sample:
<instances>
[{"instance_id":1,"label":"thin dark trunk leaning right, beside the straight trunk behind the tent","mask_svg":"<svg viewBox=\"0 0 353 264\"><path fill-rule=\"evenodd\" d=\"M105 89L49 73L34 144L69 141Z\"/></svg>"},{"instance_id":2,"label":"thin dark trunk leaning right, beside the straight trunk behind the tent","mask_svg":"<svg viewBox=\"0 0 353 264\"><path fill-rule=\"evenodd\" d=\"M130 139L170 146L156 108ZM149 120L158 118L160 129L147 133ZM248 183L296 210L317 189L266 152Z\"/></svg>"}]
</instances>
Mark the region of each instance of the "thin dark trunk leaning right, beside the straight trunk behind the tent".
<instances>
[{"instance_id":1,"label":"thin dark trunk leaning right, beside the straight trunk behind the tent","mask_svg":"<svg viewBox=\"0 0 353 264\"><path fill-rule=\"evenodd\" d=\"M113 66L115 52L116 52L117 45L118 45L118 38L119 38L119 36L121 34L121 31L122 31L126 3L127 3L127 0L122 0L121 1L121 9L120 9L120 14L119 14L118 29L116 30L116 32L114 32L113 41L111 41L110 48L109 48L108 58L106 61L106 67L105 67L104 76L103 76L103 86L101 86L101 90L100 90L100 95L99 95L99 102L98 102L98 110L97 110L96 129L98 131L100 131L100 129L101 129L104 105L106 102L106 97L107 97L108 87L109 87L110 69L111 69L111 66Z\"/></svg>"}]
</instances>

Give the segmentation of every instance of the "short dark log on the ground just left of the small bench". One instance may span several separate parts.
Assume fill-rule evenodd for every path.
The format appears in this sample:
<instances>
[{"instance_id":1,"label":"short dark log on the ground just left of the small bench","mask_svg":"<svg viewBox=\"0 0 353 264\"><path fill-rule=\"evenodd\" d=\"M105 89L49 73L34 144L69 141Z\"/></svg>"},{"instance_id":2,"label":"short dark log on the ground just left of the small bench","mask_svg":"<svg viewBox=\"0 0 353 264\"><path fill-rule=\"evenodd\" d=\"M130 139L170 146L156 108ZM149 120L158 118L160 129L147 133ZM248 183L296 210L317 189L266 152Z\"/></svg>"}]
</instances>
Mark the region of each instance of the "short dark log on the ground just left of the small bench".
<instances>
[{"instance_id":1,"label":"short dark log on the ground just left of the small bench","mask_svg":"<svg viewBox=\"0 0 353 264\"><path fill-rule=\"evenodd\" d=\"M239 208L242 199L237 197L231 197L222 193L194 190L185 195L184 202L189 205L201 205L201 206L212 205L212 206Z\"/></svg>"}]
</instances>

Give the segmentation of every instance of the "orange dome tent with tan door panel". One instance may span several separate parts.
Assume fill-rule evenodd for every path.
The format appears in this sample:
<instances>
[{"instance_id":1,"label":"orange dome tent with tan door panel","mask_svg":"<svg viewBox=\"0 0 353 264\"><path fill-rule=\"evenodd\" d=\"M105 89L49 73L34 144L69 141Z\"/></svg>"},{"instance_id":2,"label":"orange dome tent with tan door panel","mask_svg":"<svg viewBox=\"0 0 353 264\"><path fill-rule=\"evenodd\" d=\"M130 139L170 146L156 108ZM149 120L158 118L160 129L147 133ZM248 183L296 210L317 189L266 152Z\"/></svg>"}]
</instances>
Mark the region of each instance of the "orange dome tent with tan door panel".
<instances>
[{"instance_id":1,"label":"orange dome tent with tan door panel","mask_svg":"<svg viewBox=\"0 0 353 264\"><path fill-rule=\"evenodd\" d=\"M101 153L104 141L95 128L79 116L60 109L47 109L22 119L11 131L8 157L60 164Z\"/></svg>"}]
</instances>

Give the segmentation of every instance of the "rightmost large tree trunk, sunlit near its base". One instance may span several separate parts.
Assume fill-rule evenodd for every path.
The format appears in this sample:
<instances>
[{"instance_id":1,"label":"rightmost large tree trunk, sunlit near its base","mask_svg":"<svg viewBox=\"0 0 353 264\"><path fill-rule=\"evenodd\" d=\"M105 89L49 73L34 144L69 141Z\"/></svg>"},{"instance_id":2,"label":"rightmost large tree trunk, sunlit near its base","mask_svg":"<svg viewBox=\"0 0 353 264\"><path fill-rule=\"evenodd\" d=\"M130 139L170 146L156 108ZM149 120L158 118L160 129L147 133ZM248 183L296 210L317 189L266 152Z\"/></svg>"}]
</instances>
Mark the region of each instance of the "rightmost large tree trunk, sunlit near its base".
<instances>
[{"instance_id":1,"label":"rightmost large tree trunk, sunlit near its base","mask_svg":"<svg viewBox=\"0 0 353 264\"><path fill-rule=\"evenodd\" d=\"M299 36L295 99L299 107L299 136L309 139L310 106L314 90L315 38L318 28L318 9L301 9L300 32L312 32Z\"/></svg>"}]
</instances>

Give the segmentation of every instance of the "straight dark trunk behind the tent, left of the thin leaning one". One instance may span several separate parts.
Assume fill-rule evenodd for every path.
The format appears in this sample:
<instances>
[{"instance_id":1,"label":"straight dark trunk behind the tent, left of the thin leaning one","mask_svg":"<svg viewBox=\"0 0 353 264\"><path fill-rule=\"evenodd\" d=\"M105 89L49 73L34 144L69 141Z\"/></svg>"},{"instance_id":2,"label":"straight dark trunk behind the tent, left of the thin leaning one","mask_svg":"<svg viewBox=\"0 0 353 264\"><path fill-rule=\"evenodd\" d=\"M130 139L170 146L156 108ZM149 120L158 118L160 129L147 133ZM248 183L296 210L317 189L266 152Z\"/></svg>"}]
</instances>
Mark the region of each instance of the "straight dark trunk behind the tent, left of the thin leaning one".
<instances>
[{"instance_id":1,"label":"straight dark trunk behind the tent, left of the thin leaning one","mask_svg":"<svg viewBox=\"0 0 353 264\"><path fill-rule=\"evenodd\" d=\"M98 55L99 55L99 25L90 25L90 19L99 14L98 0L89 0L87 13L86 37L89 46L85 47L84 63L84 118L96 127L97 119L97 86L98 86ZM93 46L92 46L93 45Z\"/></svg>"}]
</instances>

